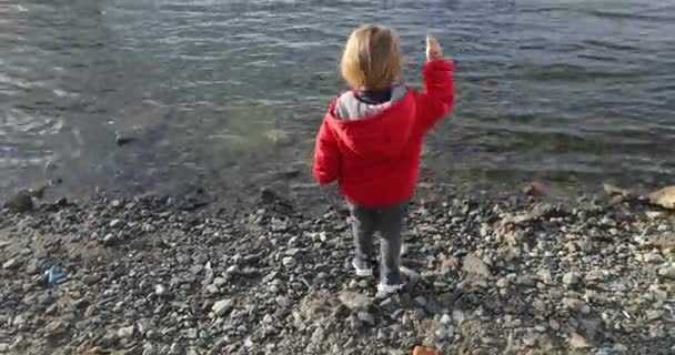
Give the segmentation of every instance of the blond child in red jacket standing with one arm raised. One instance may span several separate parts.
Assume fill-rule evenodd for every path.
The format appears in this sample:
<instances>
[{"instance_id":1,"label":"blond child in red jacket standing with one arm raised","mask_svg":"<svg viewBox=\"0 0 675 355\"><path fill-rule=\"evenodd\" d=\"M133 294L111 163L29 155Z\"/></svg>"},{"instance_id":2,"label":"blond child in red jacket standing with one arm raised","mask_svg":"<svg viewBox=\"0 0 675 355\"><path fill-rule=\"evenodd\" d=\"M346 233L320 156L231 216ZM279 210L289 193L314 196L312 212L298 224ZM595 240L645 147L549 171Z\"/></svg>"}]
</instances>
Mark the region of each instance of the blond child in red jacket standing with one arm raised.
<instances>
[{"instance_id":1,"label":"blond child in red jacket standing with one arm raised","mask_svg":"<svg viewBox=\"0 0 675 355\"><path fill-rule=\"evenodd\" d=\"M400 82L399 39L386 27L361 26L342 57L352 91L334 100L319 131L313 173L320 184L339 181L351 210L360 276L372 275L373 234L382 234L379 293L403 286L401 230L419 174L424 134L452 109L453 64L426 38L424 91Z\"/></svg>"}]
</instances>

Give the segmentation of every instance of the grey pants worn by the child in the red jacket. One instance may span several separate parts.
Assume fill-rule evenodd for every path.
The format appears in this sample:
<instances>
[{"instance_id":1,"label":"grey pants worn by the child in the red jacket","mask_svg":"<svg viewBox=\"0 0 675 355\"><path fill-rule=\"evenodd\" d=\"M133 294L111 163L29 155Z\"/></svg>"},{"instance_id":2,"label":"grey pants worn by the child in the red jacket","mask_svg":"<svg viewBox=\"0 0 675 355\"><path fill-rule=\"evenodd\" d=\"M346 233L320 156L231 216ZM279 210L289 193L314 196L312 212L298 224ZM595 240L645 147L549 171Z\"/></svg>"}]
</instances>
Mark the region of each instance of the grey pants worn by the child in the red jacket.
<instances>
[{"instance_id":1,"label":"grey pants worn by the child in the red jacket","mask_svg":"<svg viewBox=\"0 0 675 355\"><path fill-rule=\"evenodd\" d=\"M352 212L352 233L356 258L370 261L374 257L374 234L380 232L382 282L401 283L401 232L406 214L407 203L397 203L389 207L364 207L350 204Z\"/></svg>"}]
</instances>

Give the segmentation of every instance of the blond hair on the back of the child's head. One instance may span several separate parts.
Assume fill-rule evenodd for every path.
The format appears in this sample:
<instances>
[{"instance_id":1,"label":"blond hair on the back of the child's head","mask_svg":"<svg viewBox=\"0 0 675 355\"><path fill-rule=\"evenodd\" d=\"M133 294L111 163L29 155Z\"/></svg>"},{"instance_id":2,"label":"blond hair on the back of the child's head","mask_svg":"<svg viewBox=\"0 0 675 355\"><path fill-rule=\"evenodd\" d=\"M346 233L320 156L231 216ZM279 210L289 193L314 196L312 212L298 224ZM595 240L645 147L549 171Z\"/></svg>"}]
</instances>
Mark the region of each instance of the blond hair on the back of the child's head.
<instances>
[{"instance_id":1,"label":"blond hair on the back of the child's head","mask_svg":"<svg viewBox=\"0 0 675 355\"><path fill-rule=\"evenodd\" d=\"M344 81L355 90L392 87L401 74L399 37L384 26L356 28L346 41L341 70Z\"/></svg>"}]
</instances>

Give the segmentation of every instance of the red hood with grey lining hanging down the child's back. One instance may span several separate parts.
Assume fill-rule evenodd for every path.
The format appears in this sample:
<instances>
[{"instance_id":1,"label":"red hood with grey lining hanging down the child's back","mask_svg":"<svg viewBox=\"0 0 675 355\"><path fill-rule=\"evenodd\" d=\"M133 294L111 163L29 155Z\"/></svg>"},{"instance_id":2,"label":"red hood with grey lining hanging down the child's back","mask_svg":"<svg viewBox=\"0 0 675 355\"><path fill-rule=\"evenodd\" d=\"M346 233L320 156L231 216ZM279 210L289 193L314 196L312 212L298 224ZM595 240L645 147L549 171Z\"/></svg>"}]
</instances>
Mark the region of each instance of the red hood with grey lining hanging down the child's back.
<instances>
[{"instance_id":1,"label":"red hood with grey lining hanging down the child's back","mask_svg":"<svg viewBox=\"0 0 675 355\"><path fill-rule=\"evenodd\" d=\"M415 101L410 90L386 108L357 120L338 118L336 101L331 103L326 122L343 149L364 159L401 154L411 138L415 119Z\"/></svg>"}]
</instances>

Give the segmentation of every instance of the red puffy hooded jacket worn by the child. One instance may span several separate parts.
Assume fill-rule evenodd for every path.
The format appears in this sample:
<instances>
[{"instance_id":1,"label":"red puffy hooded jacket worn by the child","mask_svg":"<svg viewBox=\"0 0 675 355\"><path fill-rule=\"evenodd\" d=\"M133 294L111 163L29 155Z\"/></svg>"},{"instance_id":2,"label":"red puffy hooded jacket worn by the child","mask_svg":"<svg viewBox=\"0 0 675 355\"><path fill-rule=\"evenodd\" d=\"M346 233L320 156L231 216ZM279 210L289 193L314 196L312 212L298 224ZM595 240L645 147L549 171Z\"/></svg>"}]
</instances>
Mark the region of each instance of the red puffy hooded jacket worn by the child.
<instances>
[{"instance_id":1,"label":"red puffy hooded jacket worn by the child","mask_svg":"<svg viewBox=\"0 0 675 355\"><path fill-rule=\"evenodd\" d=\"M338 180L354 204L380 207L410 199L420 173L424 134L452 109L453 64L429 62L422 69L424 92L407 90L391 106L360 120L335 118L335 101L326 112L314 149L314 178Z\"/></svg>"}]
</instances>

